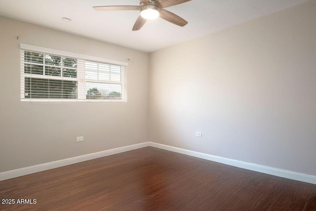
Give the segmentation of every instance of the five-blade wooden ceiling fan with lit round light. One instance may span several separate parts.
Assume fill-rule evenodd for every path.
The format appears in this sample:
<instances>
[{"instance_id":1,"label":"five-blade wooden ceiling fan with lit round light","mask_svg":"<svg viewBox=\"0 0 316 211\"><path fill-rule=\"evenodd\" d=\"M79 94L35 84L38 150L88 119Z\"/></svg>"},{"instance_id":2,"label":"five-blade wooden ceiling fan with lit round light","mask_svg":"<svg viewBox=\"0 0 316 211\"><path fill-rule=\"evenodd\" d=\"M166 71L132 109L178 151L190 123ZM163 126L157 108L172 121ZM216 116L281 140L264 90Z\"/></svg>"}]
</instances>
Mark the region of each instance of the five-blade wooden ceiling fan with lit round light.
<instances>
[{"instance_id":1,"label":"five-blade wooden ceiling fan with lit round light","mask_svg":"<svg viewBox=\"0 0 316 211\"><path fill-rule=\"evenodd\" d=\"M147 20L156 19L158 17L169 21L178 26L187 25L187 21L178 15L169 12L163 8L168 6L185 3L191 0L140 0L139 6L94 6L95 10L140 10L140 15L137 18L133 31L140 30Z\"/></svg>"}]
</instances>

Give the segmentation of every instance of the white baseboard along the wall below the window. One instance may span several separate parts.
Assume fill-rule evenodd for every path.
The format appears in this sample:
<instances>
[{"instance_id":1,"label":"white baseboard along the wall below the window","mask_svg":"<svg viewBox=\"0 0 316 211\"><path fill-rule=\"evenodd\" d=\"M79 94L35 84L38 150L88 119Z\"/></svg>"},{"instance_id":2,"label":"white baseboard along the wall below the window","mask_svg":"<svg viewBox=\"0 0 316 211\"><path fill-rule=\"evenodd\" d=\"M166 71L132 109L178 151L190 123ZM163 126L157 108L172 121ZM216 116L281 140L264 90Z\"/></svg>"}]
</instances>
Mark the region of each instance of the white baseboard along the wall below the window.
<instances>
[{"instance_id":1,"label":"white baseboard along the wall below the window","mask_svg":"<svg viewBox=\"0 0 316 211\"><path fill-rule=\"evenodd\" d=\"M39 164L36 166L4 171L4 172L0 172L0 181L5 180L5 179L11 179L11 178L18 177L18 176L31 174L31 173L40 172L43 170L54 169L54 168L58 168L58 167L68 166L71 164L76 164L76 163L83 162L83 161L88 161L88 160L92 160L92 159L96 159L96 158L114 155L114 154L118 154L121 152L127 152L130 150L139 149L139 148L143 148L143 147L147 147L147 146L149 146L149 142L119 147L119 148L115 148L115 149L109 149L109 150L105 150L105 151L101 151L101 152L91 153L91 154L87 154L87 155L81 155L78 157L67 158L64 160L53 161L53 162L49 162L49 163L45 163L45 164Z\"/></svg>"}]
</instances>

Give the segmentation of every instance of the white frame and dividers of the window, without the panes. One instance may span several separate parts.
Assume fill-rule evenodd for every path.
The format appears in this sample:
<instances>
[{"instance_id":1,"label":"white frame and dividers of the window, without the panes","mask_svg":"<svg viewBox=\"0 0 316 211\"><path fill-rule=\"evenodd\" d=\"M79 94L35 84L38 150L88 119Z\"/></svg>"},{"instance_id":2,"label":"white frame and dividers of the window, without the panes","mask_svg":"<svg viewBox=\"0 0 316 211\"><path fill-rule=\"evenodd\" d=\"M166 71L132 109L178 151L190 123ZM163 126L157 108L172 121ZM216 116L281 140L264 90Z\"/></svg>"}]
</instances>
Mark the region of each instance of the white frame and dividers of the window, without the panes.
<instances>
[{"instance_id":1,"label":"white frame and dividers of the window, without the panes","mask_svg":"<svg viewBox=\"0 0 316 211\"><path fill-rule=\"evenodd\" d=\"M79 53L72 53L68 51L56 50L51 48L45 48L35 45L29 45L20 43L21 48L21 102L127 102L127 62L116 61L105 59L101 57L88 56ZM55 98L46 98L46 99L36 99L36 98L25 98L25 78L29 77L30 74L24 72L24 51L34 51L43 54L58 55L67 58L77 59L77 78L68 78L68 77L59 77L59 76L49 76L49 79L52 80L62 80L62 81L77 81L78 90L85 90L86 82L98 82L105 83L98 80L85 79L85 67L84 63L87 62L97 62L97 63L106 63L110 65L118 65L121 67L121 81L120 82L106 82L106 84L121 84L122 93L121 99L85 99L84 92L78 92L77 99L55 99ZM35 75L35 74L32 74ZM44 75L36 75L35 78L48 79Z\"/></svg>"}]
</instances>

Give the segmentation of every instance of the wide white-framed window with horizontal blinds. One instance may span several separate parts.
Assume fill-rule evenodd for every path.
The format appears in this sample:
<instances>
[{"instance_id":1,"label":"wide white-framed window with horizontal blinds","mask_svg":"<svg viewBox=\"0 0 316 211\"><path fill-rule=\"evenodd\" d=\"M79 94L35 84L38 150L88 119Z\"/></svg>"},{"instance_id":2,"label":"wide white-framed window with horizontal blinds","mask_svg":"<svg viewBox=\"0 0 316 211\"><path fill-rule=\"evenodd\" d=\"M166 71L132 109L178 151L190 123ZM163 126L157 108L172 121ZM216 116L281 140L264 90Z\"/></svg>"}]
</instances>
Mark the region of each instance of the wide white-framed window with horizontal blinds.
<instances>
[{"instance_id":1,"label":"wide white-framed window with horizontal blinds","mask_svg":"<svg viewBox=\"0 0 316 211\"><path fill-rule=\"evenodd\" d=\"M127 63L21 44L21 101L124 102Z\"/></svg>"}]
</instances>

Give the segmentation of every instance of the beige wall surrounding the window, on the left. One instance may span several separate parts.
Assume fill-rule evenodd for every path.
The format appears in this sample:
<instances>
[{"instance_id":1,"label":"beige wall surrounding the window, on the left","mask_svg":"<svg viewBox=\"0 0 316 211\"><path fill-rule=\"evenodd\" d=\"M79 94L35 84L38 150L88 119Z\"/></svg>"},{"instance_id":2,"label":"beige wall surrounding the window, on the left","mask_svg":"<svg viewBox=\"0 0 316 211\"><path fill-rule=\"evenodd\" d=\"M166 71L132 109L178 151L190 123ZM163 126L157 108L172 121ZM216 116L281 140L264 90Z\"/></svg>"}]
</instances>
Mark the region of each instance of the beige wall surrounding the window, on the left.
<instances>
[{"instance_id":1,"label":"beige wall surrounding the window, on the left","mask_svg":"<svg viewBox=\"0 0 316 211\"><path fill-rule=\"evenodd\" d=\"M127 103L21 103L20 42L129 58ZM0 16L0 172L148 141L148 65L148 53Z\"/></svg>"}]
</instances>

